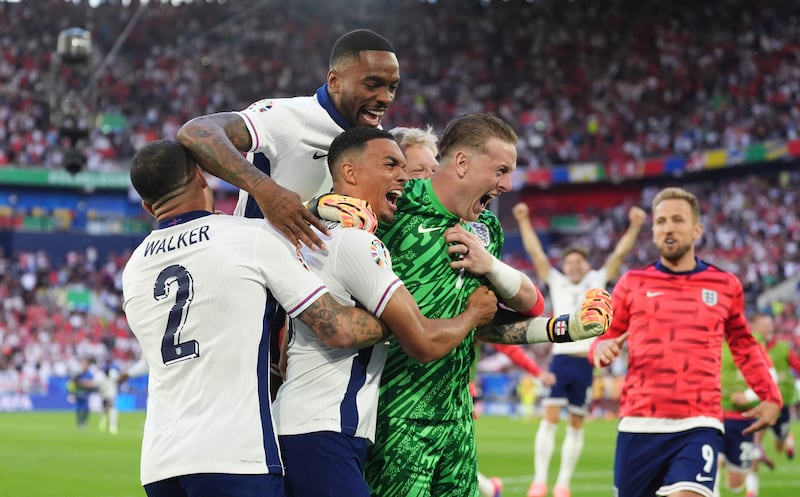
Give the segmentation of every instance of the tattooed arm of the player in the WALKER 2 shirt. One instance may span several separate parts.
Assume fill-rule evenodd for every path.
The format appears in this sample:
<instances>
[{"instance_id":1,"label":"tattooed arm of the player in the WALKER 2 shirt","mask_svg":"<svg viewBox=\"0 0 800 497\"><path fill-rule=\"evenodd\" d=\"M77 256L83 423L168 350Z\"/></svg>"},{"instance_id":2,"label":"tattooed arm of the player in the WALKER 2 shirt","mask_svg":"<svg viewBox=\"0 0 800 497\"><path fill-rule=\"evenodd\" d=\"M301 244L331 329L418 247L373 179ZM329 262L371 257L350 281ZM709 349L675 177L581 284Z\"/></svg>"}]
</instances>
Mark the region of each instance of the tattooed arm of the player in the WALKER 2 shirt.
<instances>
[{"instance_id":1,"label":"tattooed arm of the player in the WALKER 2 shirt","mask_svg":"<svg viewBox=\"0 0 800 497\"><path fill-rule=\"evenodd\" d=\"M360 349L389 337L388 328L374 315L345 307L328 293L315 300L298 318L329 347Z\"/></svg>"}]
</instances>

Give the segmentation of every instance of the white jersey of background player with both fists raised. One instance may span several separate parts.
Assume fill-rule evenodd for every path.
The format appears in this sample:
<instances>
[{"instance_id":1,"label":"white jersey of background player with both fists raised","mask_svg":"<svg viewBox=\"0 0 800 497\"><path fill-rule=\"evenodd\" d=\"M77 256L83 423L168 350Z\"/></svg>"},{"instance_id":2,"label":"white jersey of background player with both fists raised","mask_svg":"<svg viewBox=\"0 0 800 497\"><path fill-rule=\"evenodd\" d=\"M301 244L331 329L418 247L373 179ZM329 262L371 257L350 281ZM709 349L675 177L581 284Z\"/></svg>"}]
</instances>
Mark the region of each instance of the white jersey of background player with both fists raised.
<instances>
[{"instance_id":1,"label":"white jersey of background player with both fists raised","mask_svg":"<svg viewBox=\"0 0 800 497\"><path fill-rule=\"evenodd\" d=\"M586 291L590 288L605 288L608 283L608 274L605 267L592 269L578 283L572 283L564 273L556 268L550 268L547 277L547 286L550 290L550 302L553 306L553 315L572 314L575 309L583 304ZM593 338L577 342L553 344L553 354L587 355Z\"/></svg>"}]
</instances>

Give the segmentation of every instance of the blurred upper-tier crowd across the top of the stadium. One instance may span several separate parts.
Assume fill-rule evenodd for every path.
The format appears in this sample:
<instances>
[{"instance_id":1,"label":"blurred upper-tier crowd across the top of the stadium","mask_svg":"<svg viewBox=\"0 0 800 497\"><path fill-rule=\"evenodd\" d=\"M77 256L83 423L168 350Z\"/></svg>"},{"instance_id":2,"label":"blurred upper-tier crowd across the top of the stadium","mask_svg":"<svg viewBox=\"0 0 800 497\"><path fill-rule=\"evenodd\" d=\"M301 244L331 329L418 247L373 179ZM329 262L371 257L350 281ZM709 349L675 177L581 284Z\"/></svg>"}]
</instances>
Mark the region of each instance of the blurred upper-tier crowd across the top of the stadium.
<instances>
[{"instance_id":1,"label":"blurred upper-tier crowd across the top of the stadium","mask_svg":"<svg viewBox=\"0 0 800 497\"><path fill-rule=\"evenodd\" d=\"M102 169L188 118L312 93L331 41L358 25L399 54L401 90L384 125L441 129L457 114L497 112L522 136L523 165L798 136L800 25L788 0L150 2L141 18L136 2L89 3L0 2L0 164L60 165L48 122L56 87L56 102L93 90L85 152ZM75 26L92 33L88 67L55 54L59 32Z\"/></svg>"}]
</instances>

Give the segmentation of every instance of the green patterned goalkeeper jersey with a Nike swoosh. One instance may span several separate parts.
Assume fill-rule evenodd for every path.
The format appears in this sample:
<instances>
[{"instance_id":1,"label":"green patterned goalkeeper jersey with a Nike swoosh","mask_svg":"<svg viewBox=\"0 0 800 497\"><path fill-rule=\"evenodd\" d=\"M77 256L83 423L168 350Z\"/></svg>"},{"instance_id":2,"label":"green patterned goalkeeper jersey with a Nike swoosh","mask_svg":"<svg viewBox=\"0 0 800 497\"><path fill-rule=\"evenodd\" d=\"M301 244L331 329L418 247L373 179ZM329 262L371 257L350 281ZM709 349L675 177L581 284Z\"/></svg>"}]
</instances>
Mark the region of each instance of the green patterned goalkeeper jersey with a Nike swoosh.
<instances>
[{"instance_id":1,"label":"green patterned goalkeeper jersey with a Nike swoosh","mask_svg":"<svg viewBox=\"0 0 800 497\"><path fill-rule=\"evenodd\" d=\"M486 281L450 267L443 232L461 222L447 211L429 179L410 181L398 201L394 222L381 225L378 237L389 249L392 267L423 315L451 318L466 308L467 298ZM475 222L461 225L476 234L495 257L503 250L497 216L484 210ZM439 360L421 364L392 342L381 377L378 416L446 421L472 416L470 366L475 358L473 334Z\"/></svg>"}]
</instances>

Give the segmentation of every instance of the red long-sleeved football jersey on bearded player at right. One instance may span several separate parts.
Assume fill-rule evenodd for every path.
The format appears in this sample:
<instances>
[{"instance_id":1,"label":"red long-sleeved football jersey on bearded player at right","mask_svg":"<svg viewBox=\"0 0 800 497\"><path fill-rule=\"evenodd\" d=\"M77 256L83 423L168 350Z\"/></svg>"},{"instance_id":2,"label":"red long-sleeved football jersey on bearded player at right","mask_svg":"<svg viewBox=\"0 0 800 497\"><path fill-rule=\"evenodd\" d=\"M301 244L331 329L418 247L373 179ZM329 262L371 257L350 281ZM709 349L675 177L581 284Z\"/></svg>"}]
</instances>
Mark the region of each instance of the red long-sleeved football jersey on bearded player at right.
<instances>
[{"instance_id":1,"label":"red long-sleeved football jersey on bearded player at right","mask_svg":"<svg viewBox=\"0 0 800 497\"><path fill-rule=\"evenodd\" d=\"M744 314L744 294L731 273L699 259L694 271L660 263L630 270L612 294L611 328L592 344L629 331L628 373L620 416L722 419L722 340L761 400L781 404L760 345Z\"/></svg>"}]
</instances>

